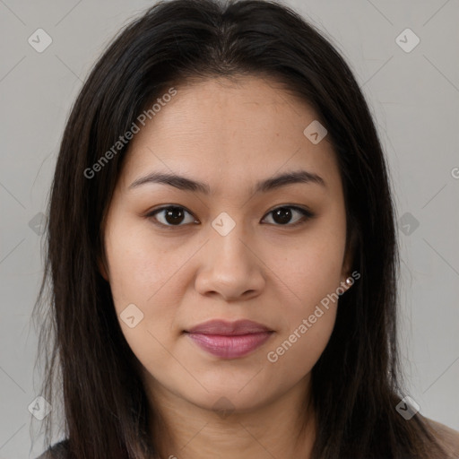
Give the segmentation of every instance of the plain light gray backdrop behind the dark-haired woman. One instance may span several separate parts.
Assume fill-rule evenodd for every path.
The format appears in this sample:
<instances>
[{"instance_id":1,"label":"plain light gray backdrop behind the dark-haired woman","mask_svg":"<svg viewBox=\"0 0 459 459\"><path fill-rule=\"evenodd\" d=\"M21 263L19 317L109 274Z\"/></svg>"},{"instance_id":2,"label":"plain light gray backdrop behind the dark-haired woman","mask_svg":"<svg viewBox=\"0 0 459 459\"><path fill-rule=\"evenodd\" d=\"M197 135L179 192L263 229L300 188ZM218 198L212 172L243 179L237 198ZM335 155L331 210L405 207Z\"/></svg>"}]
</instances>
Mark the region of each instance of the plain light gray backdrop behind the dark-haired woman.
<instances>
[{"instance_id":1,"label":"plain light gray backdrop behind the dark-haired woman","mask_svg":"<svg viewBox=\"0 0 459 459\"><path fill-rule=\"evenodd\" d=\"M30 313L42 274L40 227L30 221L45 212L82 81L117 30L151 4L0 0L0 459L35 457L42 449L30 451L28 406L39 395ZM459 2L287 4L332 39L376 117L398 212L410 395L422 414L459 430ZM53 40L42 53L28 42L39 28ZM420 38L411 52L395 41L406 28Z\"/></svg>"}]
</instances>

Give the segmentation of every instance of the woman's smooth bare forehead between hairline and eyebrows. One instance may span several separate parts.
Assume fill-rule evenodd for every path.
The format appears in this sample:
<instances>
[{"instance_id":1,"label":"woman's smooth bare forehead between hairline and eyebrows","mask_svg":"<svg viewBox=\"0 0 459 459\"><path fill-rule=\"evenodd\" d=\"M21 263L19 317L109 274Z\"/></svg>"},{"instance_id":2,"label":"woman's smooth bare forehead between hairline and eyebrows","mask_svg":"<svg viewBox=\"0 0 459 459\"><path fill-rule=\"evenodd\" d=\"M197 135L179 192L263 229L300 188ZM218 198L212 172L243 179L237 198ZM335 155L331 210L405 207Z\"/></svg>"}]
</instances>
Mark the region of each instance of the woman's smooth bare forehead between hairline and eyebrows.
<instances>
[{"instance_id":1,"label":"woman's smooth bare forehead between hairline and eyebrows","mask_svg":"<svg viewBox=\"0 0 459 459\"><path fill-rule=\"evenodd\" d=\"M284 169L307 169L327 182L340 181L327 137L314 144L304 134L317 122L316 112L281 83L245 76L175 89L177 95L163 101L134 135L122 174L125 186L158 169L212 186L254 182Z\"/></svg>"}]
</instances>

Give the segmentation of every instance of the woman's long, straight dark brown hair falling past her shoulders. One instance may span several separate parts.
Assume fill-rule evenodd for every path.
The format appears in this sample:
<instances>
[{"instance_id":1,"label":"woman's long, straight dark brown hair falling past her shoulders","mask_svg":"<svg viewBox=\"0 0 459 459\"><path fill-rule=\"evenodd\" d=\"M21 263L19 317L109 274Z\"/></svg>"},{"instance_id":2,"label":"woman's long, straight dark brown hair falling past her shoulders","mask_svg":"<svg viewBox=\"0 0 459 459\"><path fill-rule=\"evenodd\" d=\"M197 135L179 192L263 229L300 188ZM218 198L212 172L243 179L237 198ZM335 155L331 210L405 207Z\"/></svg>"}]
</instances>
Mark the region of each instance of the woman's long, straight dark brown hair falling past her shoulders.
<instances>
[{"instance_id":1,"label":"woman's long, straight dark brown hair falling past her shoulders","mask_svg":"<svg viewBox=\"0 0 459 459\"><path fill-rule=\"evenodd\" d=\"M333 334L312 370L312 457L427 459L436 442L422 418L407 421L395 411L403 397L398 247L385 157L368 105L350 67L314 25L262 0L155 4L119 32L74 103L56 163L46 271L33 312L45 361L42 394L48 402L62 396L68 457L157 454L147 434L153 420L140 362L98 270L100 229L129 143L96 175L88 170L167 88L240 74L275 78L316 110L338 159L352 270L361 273L340 299ZM44 421L47 446L53 419Z\"/></svg>"}]
</instances>

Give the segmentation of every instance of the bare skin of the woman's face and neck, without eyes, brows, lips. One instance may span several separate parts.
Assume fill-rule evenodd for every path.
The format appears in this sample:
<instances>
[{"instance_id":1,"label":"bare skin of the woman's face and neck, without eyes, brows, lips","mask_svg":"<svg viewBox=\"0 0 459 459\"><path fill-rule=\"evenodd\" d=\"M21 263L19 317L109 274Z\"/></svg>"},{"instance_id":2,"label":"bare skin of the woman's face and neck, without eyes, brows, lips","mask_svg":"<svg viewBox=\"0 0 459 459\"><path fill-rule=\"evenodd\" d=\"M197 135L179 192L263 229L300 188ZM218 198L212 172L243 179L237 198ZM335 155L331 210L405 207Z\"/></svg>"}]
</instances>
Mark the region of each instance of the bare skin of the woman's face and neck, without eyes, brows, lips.
<instances>
[{"instance_id":1,"label":"bare skin of the woman's face and neck, without eyes, brows, lips","mask_svg":"<svg viewBox=\"0 0 459 459\"><path fill-rule=\"evenodd\" d=\"M332 145L326 136L317 144L307 139L303 131L316 113L274 81L244 76L177 90L130 144L100 264L158 420L152 437L170 459L309 457L316 429L310 372L332 333L337 303L275 363L266 356L350 275ZM298 169L326 186L251 191L258 180ZM155 183L129 188L152 171L203 181L212 193ZM171 204L190 212L175 226L165 212L146 215ZM302 215L295 210L290 221L276 219L272 211L288 204L316 216L296 227ZM236 224L226 236L212 228L221 212ZM134 328L119 316L129 304L143 313ZM273 333L245 357L220 359L183 333L212 318L247 318ZM215 408L221 397L226 414Z\"/></svg>"}]
</instances>

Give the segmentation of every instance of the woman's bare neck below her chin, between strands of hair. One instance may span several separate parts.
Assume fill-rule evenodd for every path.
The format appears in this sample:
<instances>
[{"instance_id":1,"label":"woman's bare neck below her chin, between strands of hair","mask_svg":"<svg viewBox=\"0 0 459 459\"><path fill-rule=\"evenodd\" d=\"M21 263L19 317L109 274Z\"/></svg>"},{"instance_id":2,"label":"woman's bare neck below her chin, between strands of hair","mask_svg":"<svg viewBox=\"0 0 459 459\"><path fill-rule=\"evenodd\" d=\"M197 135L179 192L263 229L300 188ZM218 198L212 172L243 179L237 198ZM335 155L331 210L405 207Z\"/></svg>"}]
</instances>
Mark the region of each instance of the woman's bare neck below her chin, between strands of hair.
<instances>
[{"instance_id":1,"label":"woman's bare neck below her chin, between strands of hair","mask_svg":"<svg viewBox=\"0 0 459 459\"><path fill-rule=\"evenodd\" d=\"M306 392L302 380L274 401L218 412L157 385L150 411L153 443L161 459L213 459L217 454L221 459L309 459L316 421Z\"/></svg>"}]
</instances>

